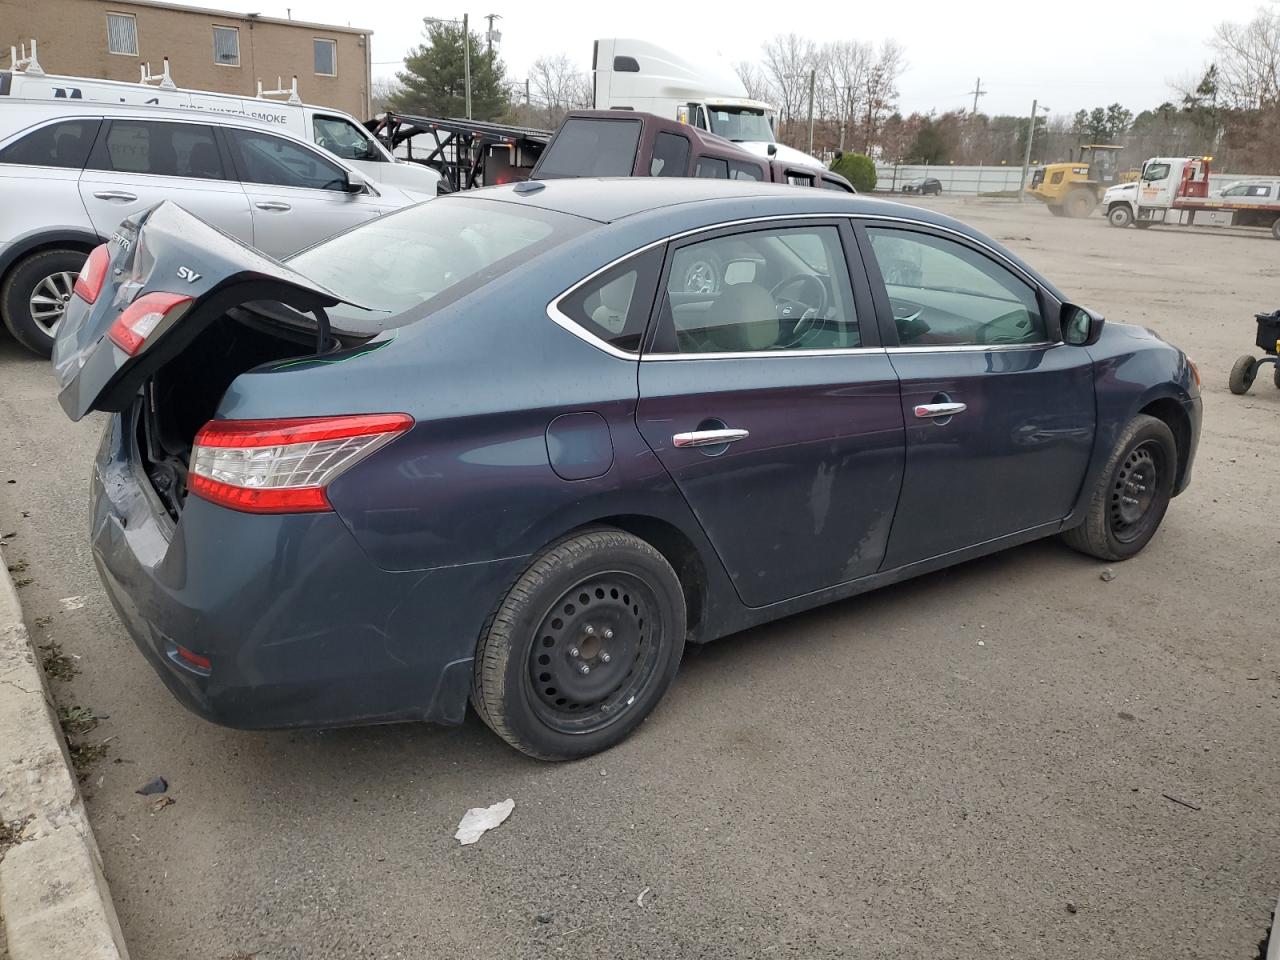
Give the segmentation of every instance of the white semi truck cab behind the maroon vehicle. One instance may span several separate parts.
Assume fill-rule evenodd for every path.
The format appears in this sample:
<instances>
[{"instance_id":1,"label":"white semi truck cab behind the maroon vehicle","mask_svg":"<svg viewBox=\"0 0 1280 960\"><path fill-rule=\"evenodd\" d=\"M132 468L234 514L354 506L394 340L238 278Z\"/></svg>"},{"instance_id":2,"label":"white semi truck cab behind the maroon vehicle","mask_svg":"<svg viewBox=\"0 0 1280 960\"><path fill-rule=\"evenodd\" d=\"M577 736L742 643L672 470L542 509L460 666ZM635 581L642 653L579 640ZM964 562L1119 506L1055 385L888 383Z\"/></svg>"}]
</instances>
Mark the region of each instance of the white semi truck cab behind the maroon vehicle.
<instances>
[{"instance_id":1,"label":"white semi truck cab behind the maroon vehicle","mask_svg":"<svg viewBox=\"0 0 1280 960\"><path fill-rule=\"evenodd\" d=\"M731 140L756 156L824 166L777 142L777 111L750 99L723 58L704 55L695 63L645 40L605 37L595 41L591 73L596 110L657 114Z\"/></svg>"}]
</instances>

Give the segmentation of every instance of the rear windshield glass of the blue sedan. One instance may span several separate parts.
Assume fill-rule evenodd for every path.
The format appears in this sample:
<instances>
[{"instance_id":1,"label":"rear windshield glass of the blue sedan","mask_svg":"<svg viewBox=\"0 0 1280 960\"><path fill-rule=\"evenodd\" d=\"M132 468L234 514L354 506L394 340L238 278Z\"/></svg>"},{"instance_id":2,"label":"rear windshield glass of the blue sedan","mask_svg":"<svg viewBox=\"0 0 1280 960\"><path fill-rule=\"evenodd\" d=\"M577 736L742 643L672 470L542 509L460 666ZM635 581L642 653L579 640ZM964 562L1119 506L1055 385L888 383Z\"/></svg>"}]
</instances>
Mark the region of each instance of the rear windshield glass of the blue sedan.
<instances>
[{"instance_id":1,"label":"rear windshield glass of the blue sedan","mask_svg":"<svg viewBox=\"0 0 1280 960\"><path fill-rule=\"evenodd\" d=\"M340 233L288 262L335 293L380 311L339 303L329 311L337 326L376 333L452 303L589 225L536 207L440 197Z\"/></svg>"}]
</instances>

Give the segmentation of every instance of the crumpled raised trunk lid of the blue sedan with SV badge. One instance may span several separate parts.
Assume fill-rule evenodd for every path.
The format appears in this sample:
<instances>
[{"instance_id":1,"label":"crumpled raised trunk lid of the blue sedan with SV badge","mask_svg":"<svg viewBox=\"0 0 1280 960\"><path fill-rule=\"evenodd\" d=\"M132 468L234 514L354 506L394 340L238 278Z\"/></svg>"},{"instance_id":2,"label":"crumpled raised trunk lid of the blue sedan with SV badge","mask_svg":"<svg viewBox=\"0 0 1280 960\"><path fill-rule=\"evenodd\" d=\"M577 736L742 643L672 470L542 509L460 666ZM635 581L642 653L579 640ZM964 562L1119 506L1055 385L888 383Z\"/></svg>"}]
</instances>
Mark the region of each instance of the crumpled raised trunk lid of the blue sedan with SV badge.
<instances>
[{"instance_id":1,"label":"crumpled raised trunk lid of the blue sedan with SV badge","mask_svg":"<svg viewBox=\"0 0 1280 960\"><path fill-rule=\"evenodd\" d=\"M72 420L92 410L118 412L128 407L148 376L239 305L274 301L316 314L317 349L328 334L326 319L319 320L326 307L349 303L367 308L170 201L124 220L106 244L106 274L93 302L79 293L72 297L54 343L58 399ZM175 306L140 328L150 325L131 352L109 334L122 314L147 294L169 294Z\"/></svg>"}]
</instances>

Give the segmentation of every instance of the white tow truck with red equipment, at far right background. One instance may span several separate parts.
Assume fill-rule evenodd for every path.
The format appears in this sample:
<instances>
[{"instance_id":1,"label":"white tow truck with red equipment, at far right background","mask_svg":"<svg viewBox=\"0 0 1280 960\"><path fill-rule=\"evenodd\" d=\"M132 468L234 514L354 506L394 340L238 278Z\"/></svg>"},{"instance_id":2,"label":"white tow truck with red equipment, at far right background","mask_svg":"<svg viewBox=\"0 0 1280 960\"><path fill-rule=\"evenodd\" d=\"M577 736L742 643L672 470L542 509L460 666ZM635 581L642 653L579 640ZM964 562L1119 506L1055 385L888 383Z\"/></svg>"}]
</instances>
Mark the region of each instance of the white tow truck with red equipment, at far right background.
<instances>
[{"instance_id":1,"label":"white tow truck with red equipment, at far right background","mask_svg":"<svg viewBox=\"0 0 1280 960\"><path fill-rule=\"evenodd\" d=\"M1102 195L1112 227L1253 227L1280 239L1280 180L1231 183L1210 196L1211 156L1153 156L1137 183Z\"/></svg>"}]
</instances>

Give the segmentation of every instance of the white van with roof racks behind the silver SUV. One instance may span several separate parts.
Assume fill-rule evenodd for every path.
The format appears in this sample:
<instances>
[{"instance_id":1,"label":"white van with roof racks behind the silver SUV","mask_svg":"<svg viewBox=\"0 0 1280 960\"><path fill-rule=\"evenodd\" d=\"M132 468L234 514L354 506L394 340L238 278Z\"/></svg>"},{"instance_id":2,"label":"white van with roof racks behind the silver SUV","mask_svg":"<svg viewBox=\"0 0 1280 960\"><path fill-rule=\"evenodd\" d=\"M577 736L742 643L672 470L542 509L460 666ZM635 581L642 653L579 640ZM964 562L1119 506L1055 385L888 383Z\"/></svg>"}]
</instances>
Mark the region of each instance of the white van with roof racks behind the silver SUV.
<instances>
[{"instance_id":1,"label":"white van with roof racks behind the silver SUV","mask_svg":"<svg viewBox=\"0 0 1280 960\"><path fill-rule=\"evenodd\" d=\"M23 63L23 61L18 61ZM142 68L143 76L146 67ZM328 106L303 104L297 95L297 79L287 101L266 97L241 97L206 90L183 90L164 73L151 78L156 86L91 77L58 77L45 73L38 63L26 69L0 70L0 105L4 99L92 100L106 104L136 104L164 109L191 108L212 113L239 114L287 129L308 140L356 168L374 183L435 196L440 174L422 164L397 160L355 116ZM261 83L259 83L261 90Z\"/></svg>"}]
</instances>

